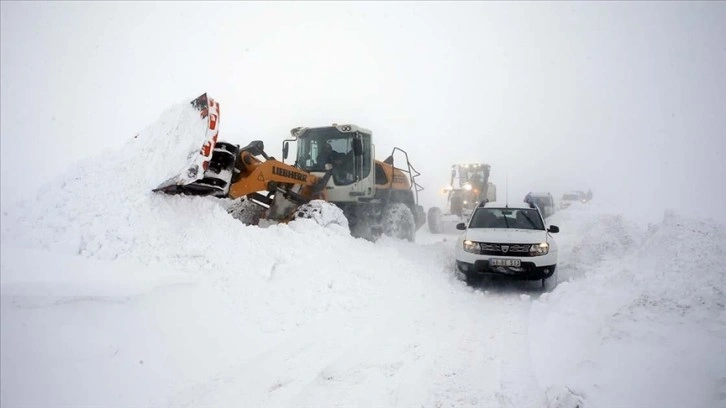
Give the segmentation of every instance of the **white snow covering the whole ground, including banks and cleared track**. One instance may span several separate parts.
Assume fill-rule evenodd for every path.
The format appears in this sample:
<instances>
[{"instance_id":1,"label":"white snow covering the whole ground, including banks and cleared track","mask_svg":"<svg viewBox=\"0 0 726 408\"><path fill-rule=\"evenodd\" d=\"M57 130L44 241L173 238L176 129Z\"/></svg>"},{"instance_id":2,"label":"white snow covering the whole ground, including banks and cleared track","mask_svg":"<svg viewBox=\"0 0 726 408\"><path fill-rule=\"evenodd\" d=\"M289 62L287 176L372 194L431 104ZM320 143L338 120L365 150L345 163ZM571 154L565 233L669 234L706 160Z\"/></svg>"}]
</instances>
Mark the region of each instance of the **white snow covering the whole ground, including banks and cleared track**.
<instances>
[{"instance_id":1,"label":"white snow covering the whole ground, including banks and cleared track","mask_svg":"<svg viewBox=\"0 0 726 408\"><path fill-rule=\"evenodd\" d=\"M152 193L188 113L3 208L3 407L726 406L726 226L574 203L548 219L557 288L471 288L455 234L374 243Z\"/></svg>"}]
</instances>

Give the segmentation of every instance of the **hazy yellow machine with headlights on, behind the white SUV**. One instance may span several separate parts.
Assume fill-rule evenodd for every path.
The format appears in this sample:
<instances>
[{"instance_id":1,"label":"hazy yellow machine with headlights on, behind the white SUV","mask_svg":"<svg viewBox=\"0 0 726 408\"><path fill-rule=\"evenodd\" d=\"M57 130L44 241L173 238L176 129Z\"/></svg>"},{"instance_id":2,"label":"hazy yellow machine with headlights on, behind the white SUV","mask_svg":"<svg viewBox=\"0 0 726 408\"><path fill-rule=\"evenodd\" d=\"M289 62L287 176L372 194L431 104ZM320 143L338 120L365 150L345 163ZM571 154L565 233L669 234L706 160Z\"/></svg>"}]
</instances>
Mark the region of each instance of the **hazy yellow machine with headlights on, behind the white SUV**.
<instances>
[{"instance_id":1,"label":"hazy yellow machine with headlights on, behind the white SUV","mask_svg":"<svg viewBox=\"0 0 726 408\"><path fill-rule=\"evenodd\" d=\"M497 189L489 181L491 166L485 163L459 163L451 166L451 180L443 189L446 207L431 207L427 221L434 234L457 232L456 224L465 222L482 201L496 201Z\"/></svg>"}]
</instances>

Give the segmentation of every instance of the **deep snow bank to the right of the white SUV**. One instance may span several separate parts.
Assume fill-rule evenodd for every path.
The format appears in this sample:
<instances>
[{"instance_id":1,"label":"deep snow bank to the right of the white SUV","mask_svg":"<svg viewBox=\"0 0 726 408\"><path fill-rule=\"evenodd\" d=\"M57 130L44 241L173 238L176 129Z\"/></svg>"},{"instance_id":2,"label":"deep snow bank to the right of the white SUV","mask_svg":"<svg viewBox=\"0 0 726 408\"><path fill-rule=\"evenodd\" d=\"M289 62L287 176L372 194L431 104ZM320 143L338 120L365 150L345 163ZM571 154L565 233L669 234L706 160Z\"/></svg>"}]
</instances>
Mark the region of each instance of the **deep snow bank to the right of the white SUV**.
<instances>
[{"instance_id":1,"label":"deep snow bank to the right of the white SUV","mask_svg":"<svg viewBox=\"0 0 726 408\"><path fill-rule=\"evenodd\" d=\"M561 213L585 217L563 240L569 281L533 303L542 385L588 407L726 405L726 227L667 212L639 232L591 210Z\"/></svg>"}]
</instances>

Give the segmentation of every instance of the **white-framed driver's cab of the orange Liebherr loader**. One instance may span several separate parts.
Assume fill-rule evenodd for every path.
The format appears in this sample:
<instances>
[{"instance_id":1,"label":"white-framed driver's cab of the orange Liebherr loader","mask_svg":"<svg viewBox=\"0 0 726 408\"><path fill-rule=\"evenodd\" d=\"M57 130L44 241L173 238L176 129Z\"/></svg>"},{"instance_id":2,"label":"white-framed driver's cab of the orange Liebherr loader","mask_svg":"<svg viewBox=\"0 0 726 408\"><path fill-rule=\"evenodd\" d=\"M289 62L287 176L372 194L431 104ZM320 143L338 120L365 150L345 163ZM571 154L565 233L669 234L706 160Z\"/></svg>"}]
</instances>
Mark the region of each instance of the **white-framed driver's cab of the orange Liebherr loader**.
<instances>
[{"instance_id":1,"label":"white-framed driver's cab of the orange Liebherr loader","mask_svg":"<svg viewBox=\"0 0 726 408\"><path fill-rule=\"evenodd\" d=\"M375 152L371 131L355 125L333 124L295 128L291 134L297 142L295 167L318 175L332 168L328 182L331 201L354 201L356 197L374 194Z\"/></svg>"}]
</instances>

